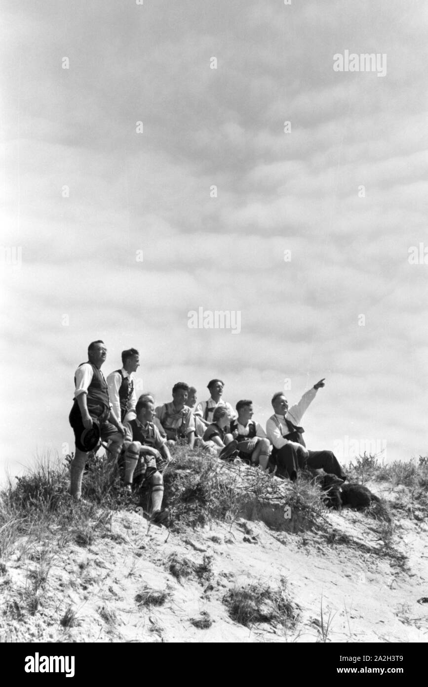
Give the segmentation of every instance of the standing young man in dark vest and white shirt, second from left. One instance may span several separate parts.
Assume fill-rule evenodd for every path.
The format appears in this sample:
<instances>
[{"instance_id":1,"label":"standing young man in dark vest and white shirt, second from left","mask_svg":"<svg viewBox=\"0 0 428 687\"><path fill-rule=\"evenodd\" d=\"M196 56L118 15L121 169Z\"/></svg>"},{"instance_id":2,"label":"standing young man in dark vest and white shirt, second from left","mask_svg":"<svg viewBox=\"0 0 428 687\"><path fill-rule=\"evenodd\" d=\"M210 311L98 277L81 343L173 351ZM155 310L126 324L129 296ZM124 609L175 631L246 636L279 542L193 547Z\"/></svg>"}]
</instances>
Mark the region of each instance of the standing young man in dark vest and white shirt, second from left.
<instances>
[{"instance_id":1,"label":"standing young man in dark vest and white shirt, second from left","mask_svg":"<svg viewBox=\"0 0 428 687\"><path fill-rule=\"evenodd\" d=\"M132 374L140 366L136 348L122 351L122 368L110 372L107 377L108 395L113 412L121 422L135 417L136 393Z\"/></svg>"}]
</instances>

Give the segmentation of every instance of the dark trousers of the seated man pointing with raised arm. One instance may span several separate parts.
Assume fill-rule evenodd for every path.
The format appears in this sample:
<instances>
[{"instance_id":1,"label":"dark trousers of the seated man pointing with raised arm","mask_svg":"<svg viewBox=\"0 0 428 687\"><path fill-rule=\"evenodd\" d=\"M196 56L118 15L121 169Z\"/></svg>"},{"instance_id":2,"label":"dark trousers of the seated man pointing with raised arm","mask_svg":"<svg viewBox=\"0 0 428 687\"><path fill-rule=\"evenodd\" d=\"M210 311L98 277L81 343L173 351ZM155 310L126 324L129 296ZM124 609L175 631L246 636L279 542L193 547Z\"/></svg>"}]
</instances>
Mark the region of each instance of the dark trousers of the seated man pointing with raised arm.
<instances>
[{"instance_id":1,"label":"dark trousers of the seated man pointing with raised arm","mask_svg":"<svg viewBox=\"0 0 428 687\"><path fill-rule=\"evenodd\" d=\"M281 449L272 451L272 463L276 465L276 473L281 477L296 480L298 469L324 469L324 472L344 479L345 475L333 451L309 451L306 458L294 446L285 444Z\"/></svg>"}]
</instances>

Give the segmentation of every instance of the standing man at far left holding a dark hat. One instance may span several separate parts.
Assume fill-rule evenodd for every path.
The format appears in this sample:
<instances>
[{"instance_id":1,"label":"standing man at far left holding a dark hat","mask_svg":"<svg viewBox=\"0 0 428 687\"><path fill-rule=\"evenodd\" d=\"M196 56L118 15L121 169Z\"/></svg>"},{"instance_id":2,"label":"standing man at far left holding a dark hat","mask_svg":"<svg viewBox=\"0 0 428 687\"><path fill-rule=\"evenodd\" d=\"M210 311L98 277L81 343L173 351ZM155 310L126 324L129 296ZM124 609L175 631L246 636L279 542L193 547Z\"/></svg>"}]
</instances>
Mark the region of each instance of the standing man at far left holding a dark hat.
<instances>
[{"instance_id":1,"label":"standing man at far left holding a dark hat","mask_svg":"<svg viewBox=\"0 0 428 687\"><path fill-rule=\"evenodd\" d=\"M88 450L82 444L84 430L91 429L94 422L98 423L101 438L111 442L112 460L117 458L125 433L120 418L111 409L107 382L101 371L106 356L104 341L93 341L88 347L88 362L81 363L74 376L74 403L69 422L75 436L75 456L70 469L70 492L77 501L82 497L82 477L88 460Z\"/></svg>"}]
</instances>

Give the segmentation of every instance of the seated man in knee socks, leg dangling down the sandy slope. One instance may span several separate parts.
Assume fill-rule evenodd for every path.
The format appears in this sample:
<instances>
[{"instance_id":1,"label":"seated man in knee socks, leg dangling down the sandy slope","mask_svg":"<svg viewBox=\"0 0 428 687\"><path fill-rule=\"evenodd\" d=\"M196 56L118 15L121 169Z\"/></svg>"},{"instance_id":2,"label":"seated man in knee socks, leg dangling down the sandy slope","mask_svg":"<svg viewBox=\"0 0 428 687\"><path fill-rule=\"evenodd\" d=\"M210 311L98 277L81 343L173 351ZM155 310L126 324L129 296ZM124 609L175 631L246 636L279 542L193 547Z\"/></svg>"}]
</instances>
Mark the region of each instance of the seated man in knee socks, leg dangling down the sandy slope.
<instances>
[{"instance_id":1,"label":"seated man in knee socks, leg dangling down the sandy slope","mask_svg":"<svg viewBox=\"0 0 428 687\"><path fill-rule=\"evenodd\" d=\"M136 418L125 423L126 437L123 443L123 462L125 464L124 482L128 492L132 483L142 484L150 481L152 488L152 519L161 523L167 517L162 509L163 477L162 472L171 460L168 447L152 419L154 405L147 398L136 403Z\"/></svg>"}]
</instances>

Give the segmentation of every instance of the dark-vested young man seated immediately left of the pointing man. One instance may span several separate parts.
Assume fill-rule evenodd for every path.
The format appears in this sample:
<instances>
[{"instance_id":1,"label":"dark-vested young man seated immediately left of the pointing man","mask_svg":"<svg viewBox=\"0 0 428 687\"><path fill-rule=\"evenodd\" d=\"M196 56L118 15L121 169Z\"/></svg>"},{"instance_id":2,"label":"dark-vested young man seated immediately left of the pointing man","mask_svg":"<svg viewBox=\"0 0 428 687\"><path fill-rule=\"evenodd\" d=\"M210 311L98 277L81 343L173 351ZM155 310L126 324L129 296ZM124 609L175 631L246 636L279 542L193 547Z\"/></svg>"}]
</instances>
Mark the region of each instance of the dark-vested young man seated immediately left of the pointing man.
<instances>
[{"instance_id":1,"label":"dark-vested young man seated immediately left of the pointing man","mask_svg":"<svg viewBox=\"0 0 428 687\"><path fill-rule=\"evenodd\" d=\"M252 420L252 401L238 401L236 409L238 417L230 421L230 432L238 442L239 458L250 460L265 471L270 458L270 441L265 430Z\"/></svg>"}]
</instances>

